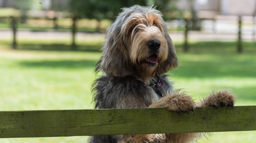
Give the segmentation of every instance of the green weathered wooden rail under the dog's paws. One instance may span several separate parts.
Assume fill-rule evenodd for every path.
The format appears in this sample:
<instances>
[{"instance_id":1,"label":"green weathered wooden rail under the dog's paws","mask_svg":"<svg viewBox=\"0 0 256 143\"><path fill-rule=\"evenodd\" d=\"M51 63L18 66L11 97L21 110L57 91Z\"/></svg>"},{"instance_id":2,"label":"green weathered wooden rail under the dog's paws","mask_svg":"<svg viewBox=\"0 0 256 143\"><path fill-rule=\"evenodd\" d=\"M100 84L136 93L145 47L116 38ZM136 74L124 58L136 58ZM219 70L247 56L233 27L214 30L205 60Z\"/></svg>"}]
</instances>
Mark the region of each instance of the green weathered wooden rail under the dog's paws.
<instances>
[{"instance_id":1,"label":"green weathered wooden rail under the dog's paws","mask_svg":"<svg viewBox=\"0 0 256 143\"><path fill-rule=\"evenodd\" d=\"M256 106L0 111L0 138L256 130Z\"/></svg>"}]
</instances>

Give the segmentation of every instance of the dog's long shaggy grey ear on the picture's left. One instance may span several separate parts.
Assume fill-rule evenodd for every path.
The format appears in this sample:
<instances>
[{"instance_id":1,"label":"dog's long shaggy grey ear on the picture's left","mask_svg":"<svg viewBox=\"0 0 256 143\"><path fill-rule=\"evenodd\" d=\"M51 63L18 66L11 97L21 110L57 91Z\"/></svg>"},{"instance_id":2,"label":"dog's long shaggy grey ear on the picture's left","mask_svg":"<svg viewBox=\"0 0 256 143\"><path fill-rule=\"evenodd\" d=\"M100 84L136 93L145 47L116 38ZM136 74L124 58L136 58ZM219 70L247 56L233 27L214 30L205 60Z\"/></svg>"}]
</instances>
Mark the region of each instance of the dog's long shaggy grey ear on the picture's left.
<instances>
[{"instance_id":1,"label":"dog's long shaggy grey ear on the picture's left","mask_svg":"<svg viewBox=\"0 0 256 143\"><path fill-rule=\"evenodd\" d=\"M120 22L116 21L108 27L105 39L103 56L96 70L101 69L107 74L118 77L131 75L133 68L129 64L127 44L123 40Z\"/></svg>"}]
</instances>

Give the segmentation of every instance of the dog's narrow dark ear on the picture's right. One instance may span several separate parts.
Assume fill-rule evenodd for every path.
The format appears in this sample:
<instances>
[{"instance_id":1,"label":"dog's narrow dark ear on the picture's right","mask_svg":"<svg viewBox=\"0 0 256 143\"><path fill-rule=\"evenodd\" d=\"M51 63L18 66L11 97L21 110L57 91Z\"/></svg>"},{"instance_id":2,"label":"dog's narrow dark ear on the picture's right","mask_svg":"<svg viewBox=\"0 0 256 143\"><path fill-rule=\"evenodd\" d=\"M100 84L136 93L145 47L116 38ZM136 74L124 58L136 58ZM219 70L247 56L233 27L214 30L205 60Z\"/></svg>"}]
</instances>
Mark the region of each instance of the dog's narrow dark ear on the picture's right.
<instances>
[{"instance_id":1,"label":"dog's narrow dark ear on the picture's right","mask_svg":"<svg viewBox=\"0 0 256 143\"><path fill-rule=\"evenodd\" d=\"M159 68L157 71L158 74L166 73L178 67L178 58L175 52L174 44L168 34L167 26L165 25L164 22L161 26L163 28L164 37L167 40L167 44L168 44L168 56L167 56L167 60L165 60L163 63L159 65Z\"/></svg>"}]
</instances>

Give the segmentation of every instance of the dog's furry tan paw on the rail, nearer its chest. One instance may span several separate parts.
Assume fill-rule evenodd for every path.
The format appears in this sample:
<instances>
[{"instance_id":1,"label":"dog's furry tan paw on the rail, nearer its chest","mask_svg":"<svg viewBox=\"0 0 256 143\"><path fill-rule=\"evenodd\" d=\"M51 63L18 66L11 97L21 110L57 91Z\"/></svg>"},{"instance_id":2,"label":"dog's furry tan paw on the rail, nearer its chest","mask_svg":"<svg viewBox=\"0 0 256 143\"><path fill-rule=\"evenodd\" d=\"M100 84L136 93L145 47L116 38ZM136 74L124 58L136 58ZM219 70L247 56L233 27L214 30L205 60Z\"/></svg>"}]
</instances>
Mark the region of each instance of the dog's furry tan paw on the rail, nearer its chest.
<instances>
[{"instance_id":1,"label":"dog's furry tan paw on the rail, nearer its chest","mask_svg":"<svg viewBox=\"0 0 256 143\"><path fill-rule=\"evenodd\" d=\"M189 111L195 112L195 102L185 92L176 90L159 101L153 102L150 108L167 108L168 110L178 112L179 115L181 112L189 114Z\"/></svg>"}]
</instances>

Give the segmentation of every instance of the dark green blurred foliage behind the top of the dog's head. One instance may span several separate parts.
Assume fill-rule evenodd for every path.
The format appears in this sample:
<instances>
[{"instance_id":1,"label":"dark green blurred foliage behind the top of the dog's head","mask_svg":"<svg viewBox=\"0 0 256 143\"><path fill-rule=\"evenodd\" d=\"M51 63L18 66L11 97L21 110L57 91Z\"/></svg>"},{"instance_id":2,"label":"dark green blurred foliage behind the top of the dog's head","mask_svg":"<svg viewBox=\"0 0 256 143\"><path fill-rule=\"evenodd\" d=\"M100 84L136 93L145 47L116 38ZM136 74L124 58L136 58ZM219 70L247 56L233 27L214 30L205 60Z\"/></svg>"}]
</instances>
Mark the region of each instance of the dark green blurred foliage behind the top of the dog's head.
<instances>
[{"instance_id":1,"label":"dark green blurred foliage behind the top of the dog's head","mask_svg":"<svg viewBox=\"0 0 256 143\"><path fill-rule=\"evenodd\" d=\"M166 19L170 19L173 17L170 13L178 10L175 5L176 2L177 0L71 0L70 8L72 12L76 13L80 17L102 20L113 19L118 15L123 7L130 7L133 5L155 5L157 6L157 9L164 13Z\"/></svg>"}]
</instances>

